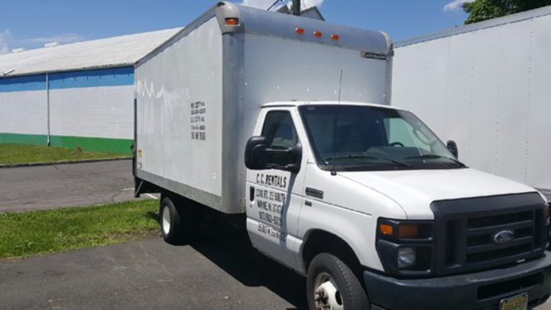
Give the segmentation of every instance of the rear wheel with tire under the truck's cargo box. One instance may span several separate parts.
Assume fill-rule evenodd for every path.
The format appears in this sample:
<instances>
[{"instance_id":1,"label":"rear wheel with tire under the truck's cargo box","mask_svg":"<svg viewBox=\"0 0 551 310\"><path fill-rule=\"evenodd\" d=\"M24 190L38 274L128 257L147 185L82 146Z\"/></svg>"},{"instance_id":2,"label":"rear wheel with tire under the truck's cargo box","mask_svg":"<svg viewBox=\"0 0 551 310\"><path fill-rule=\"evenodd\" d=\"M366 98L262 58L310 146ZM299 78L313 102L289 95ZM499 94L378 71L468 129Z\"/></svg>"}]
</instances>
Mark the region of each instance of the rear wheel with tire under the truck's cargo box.
<instances>
[{"instance_id":1,"label":"rear wheel with tire under the truck's cargo box","mask_svg":"<svg viewBox=\"0 0 551 310\"><path fill-rule=\"evenodd\" d=\"M163 239L171 245L181 245L189 241L189 223L185 221L185 208L176 208L173 199L165 196L160 201L159 223Z\"/></svg>"}]
</instances>

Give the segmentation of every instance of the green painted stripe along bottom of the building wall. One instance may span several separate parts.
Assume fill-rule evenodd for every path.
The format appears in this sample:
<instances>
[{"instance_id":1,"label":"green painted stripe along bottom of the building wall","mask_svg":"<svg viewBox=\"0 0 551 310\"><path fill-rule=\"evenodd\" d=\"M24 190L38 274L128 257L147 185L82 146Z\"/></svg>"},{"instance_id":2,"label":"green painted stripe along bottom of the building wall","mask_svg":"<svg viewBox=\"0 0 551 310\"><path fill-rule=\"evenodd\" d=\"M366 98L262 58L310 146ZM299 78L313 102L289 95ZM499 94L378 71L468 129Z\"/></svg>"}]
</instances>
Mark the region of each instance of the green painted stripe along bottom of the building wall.
<instances>
[{"instance_id":1,"label":"green painted stripe along bottom of the building wall","mask_svg":"<svg viewBox=\"0 0 551 310\"><path fill-rule=\"evenodd\" d=\"M50 145L74 149L79 146L83 151L131 154L130 139L92 138L83 136L50 136ZM48 137L44 134L0 133L0 143L46 145Z\"/></svg>"}]
</instances>

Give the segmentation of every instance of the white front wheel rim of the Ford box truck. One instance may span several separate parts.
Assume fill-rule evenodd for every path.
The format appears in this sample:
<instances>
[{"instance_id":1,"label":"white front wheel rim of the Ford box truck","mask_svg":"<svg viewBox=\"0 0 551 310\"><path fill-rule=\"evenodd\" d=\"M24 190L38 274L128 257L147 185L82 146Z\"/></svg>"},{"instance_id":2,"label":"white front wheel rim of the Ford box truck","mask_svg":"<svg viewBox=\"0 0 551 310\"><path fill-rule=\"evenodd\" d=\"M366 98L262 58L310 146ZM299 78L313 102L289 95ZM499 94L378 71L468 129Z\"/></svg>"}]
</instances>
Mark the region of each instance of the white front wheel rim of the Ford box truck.
<instances>
[{"instance_id":1,"label":"white front wheel rim of the Ford box truck","mask_svg":"<svg viewBox=\"0 0 551 310\"><path fill-rule=\"evenodd\" d=\"M315 309L342 310L342 296L337 283L329 273L322 272L315 277L314 282Z\"/></svg>"}]
</instances>

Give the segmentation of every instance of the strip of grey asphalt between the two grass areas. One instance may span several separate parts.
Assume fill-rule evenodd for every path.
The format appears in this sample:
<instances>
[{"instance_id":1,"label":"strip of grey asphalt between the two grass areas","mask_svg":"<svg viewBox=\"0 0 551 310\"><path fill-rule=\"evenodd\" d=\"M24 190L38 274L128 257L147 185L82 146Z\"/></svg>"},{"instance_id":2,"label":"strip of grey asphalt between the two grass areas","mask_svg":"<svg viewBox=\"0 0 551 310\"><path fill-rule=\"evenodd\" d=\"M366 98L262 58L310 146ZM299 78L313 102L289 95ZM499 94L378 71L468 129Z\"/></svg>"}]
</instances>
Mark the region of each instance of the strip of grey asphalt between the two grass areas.
<instances>
[{"instance_id":1,"label":"strip of grey asphalt between the two grass areas","mask_svg":"<svg viewBox=\"0 0 551 310\"><path fill-rule=\"evenodd\" d=\"M131 160L0 168L0 212L132 200L133 187Z\"/></svg>"}]
</instances>

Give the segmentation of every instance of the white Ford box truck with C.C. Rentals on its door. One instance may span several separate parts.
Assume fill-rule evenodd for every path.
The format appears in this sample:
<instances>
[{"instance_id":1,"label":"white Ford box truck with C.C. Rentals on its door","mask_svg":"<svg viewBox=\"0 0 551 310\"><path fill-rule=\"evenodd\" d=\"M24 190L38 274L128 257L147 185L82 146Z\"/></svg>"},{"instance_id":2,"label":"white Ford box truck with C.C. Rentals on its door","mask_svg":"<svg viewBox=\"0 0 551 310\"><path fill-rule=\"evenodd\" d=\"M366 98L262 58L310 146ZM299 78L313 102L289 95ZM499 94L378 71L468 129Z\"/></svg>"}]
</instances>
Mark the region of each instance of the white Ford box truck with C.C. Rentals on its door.
<instances>
[{"instance_id":1,"label":"white Ford box truck with C.C. Rentals on its door","mask_svg":"<svg viewBox=\"0 0 551 310\"><path fill-rule=\"evenodd\" d=\"M392 59L383 32L222 2L138 61L136 195L161 193L163 238L242 223L311 309L544 302L545 196L391 107Z\"/></svg>"}]
</instances>

